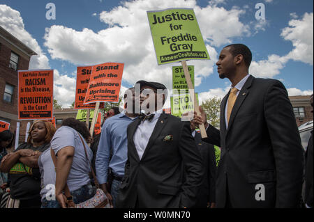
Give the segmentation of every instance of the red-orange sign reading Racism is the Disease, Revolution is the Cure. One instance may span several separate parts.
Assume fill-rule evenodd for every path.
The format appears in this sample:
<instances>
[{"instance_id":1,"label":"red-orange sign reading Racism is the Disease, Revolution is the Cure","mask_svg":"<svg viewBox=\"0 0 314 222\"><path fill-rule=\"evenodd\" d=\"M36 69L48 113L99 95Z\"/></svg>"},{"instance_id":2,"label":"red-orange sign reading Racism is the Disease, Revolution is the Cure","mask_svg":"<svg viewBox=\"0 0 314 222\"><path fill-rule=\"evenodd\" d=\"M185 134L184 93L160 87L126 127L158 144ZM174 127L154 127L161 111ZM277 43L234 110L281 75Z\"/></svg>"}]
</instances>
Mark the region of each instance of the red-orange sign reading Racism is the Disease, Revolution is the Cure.
<instances>
[{"instance_id":1,"label":"red-orange sign reading Racism is the Disease, Revolution is the Cure","mask_svg":"<svg viewBox=\"0 0 314 222\"><path fill-rule=\"evenodd\" d=\"M54 70L18 71L19 120L52 119Z\"/></svg>"}]
</instances>

